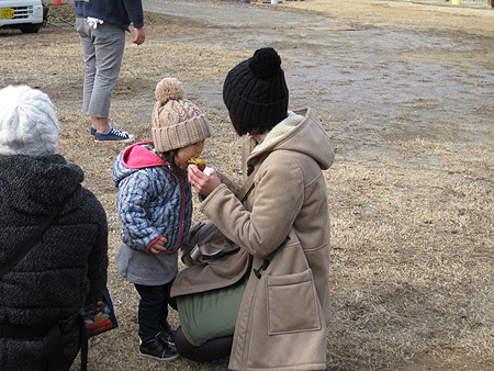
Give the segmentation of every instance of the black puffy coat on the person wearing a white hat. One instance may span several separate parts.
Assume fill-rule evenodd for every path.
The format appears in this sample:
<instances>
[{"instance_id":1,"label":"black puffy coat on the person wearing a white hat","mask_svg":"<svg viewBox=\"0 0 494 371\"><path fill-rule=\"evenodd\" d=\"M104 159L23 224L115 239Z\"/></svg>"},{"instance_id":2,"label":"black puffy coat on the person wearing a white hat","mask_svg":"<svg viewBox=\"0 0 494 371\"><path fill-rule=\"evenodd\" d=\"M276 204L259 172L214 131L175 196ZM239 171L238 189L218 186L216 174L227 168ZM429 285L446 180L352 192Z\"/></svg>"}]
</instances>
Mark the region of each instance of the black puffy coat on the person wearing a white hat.
<instances>
[{"instance_id":1,"label":"black puffy coat on the person wearing a white hat","mask_svg":"<svg viewBox=\"0 0 494 371\"><path fill-rule=\"evenodd\" d=\"M106 215L81 188L82 179L82 170L59 155L0 156L0 262L72 194L42 239L0 280L0 323L55 323L102 295ZM69 363L79 349L80 329L75 326L63 341ZM47 370L42 338L0 337L0 370Z\"/></svg>"}]
</instances>

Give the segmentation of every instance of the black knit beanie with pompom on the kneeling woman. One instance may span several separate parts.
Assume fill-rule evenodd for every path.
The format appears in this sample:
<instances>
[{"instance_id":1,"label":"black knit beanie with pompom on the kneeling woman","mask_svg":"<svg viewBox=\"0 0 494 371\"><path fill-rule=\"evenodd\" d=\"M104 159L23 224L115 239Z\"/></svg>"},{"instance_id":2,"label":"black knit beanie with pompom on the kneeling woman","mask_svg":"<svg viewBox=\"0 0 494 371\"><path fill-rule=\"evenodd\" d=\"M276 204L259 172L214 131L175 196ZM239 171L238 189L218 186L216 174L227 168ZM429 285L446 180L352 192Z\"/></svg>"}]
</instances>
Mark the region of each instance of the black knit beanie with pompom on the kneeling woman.
<instances>
[{"instance_id":1,"label":"black knit beanie with pompom on the kneeling woman","mask_svg":"<svg viewBox=\"0 0 494 371\"><path fill-rule=\"evenodd\" d=\"M235 66L223 85L232 116L255 126L274 126L288 115L289 90L278 53L266 47Z\"/></svg>"}]
</instances>

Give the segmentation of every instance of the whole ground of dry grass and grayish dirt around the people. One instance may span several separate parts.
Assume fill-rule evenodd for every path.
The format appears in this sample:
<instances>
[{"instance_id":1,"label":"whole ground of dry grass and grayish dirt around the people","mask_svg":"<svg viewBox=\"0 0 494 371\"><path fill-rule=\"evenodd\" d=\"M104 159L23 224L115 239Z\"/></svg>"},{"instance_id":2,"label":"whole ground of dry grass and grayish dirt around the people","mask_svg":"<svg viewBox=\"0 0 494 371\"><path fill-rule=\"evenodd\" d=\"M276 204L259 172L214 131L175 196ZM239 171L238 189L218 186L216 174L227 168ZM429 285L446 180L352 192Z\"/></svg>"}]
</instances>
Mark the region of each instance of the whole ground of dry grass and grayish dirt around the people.
<instances>
[{"instance_id":1,"label":"whole ground of dry grass and grayish dirt around the people","mask_svg":"<svg viewBox=\"0 0 494 371\"><path fill-rule=\"evenodd\" d=\"M147 40L137 47L127 37L111 112L117 127L149 139L155 86L177 77L213 123L207 162L238 179L240 142L222 82L270 45L282 56L291 108L311 105L327 128L336 149L325 172L328 370L494 369L494 11L380 0L143 2ZM70 4L50 14L74 22ZM48 21L33 35L0 30L0 87L26 83L49 94L59 153L85 170L85 187L108 213L120 327L91 339L89 370L226 369L227 359L138 356L138 297L113 260L120 223L110 170L124 146L90 137L77 33Z\"/></svg>"}]
</instances>

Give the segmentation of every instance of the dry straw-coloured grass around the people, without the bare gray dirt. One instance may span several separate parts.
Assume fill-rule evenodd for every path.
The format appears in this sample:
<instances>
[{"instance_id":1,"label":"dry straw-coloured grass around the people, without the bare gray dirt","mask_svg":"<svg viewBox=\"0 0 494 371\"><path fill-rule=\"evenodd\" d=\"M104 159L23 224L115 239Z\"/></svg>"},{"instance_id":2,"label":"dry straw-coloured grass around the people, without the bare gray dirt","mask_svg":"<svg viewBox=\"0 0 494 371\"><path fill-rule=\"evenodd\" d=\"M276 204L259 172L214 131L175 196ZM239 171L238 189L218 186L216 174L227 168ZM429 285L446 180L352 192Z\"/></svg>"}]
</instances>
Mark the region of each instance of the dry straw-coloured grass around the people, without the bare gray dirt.
<instances>
[{"instance_id":1,"label":"dry straw-coloured grass around the people, without the bare gray dirt","mask_svg":"<svg viewBox=\"0 0 494 371\"><path fill-rule=\"evenodd\" d=\"M319 0L305 2L307 8L323 7ZM345 1L327 3L343 3L326 11L344 21L372 23L378 16L351 15ZM355 3L364 7L366 1ZM287 5L302 7L303 2ZM370 1L369 5L405 9L404 3L389 1ZM58 11L67 12L60 15L68 19L74 10L64 7ZM460 16L453 15L454 20ZM382 13L379 16L382 22ZM186 90L198 79L217 85L250 53L217 46L221 44L181 44L169 36L200 29L164 15L148 13L146 23L148 41L142 47L127 45L112 105L112 120L139 140L150 138L154 88L164 75L184 81ZM0 86L29 83L55 102L63 126L60 154L81 166L85 186L105 207L113 257L120 244L120 225L110 169L123 146L101 146L87 135L89 124L80 109L82 63L76 32L47 26L40 34L23 35L21 44L18 32L2 31L0 41ZM403 58L419 63L423 56L408 54ZM454 60L464 64L461 55ZM240 143L223 106L211 105L207 93L188 92L213 123L214 136L206 143L204 157L238 177ZM413 103L423 110L435 109L430 102ZM419 134L394 127L374 135L369 135L366 117L358 117L358 113L347 131L323 113L337 149L337 160L326 172L333 228L329 370L494 368L492 112L486 102L482 112L472 112L471 121L461 125L437 117ZM202 217L194 213L194 220ZM90 370L226 369L227 360L162 363L138 357L138 297L110 260L109 288L120 328L91 340ZM179 324L176 313L171 313L171 321Z\"/></svg>"}]
</instances>

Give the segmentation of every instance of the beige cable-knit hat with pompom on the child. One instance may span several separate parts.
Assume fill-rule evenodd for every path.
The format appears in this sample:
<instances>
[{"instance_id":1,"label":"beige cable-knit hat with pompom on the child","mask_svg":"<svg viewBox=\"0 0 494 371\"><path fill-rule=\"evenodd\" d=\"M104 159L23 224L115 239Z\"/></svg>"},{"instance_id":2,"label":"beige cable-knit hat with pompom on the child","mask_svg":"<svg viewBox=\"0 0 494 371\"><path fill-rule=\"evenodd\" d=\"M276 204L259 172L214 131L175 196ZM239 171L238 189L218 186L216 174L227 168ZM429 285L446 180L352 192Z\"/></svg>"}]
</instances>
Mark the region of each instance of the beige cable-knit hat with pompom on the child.
<instances>
[{"instance_id":1,"label":"beige cable-knit hat with pompom on the child","mask_svg":"<svg viewBox=\"0 0 494 371\"><path fill-rule=\"evenodd\" d=\"M164 78L155 90L153 140L158 153L182 148L211 136L211 124L195 104L186 99L182 83Z\"/></svg>"}]
</instances>

